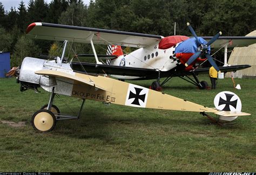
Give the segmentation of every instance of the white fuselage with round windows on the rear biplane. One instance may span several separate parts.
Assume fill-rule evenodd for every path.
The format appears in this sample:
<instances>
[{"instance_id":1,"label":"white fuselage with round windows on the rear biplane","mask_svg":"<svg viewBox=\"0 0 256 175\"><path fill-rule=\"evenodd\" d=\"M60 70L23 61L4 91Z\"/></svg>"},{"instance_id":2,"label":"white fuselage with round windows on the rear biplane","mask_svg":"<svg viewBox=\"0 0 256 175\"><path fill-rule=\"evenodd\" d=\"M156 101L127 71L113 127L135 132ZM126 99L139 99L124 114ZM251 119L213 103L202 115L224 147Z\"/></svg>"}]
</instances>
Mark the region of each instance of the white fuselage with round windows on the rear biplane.
<instances>
[{"instance_id":1,"label":"white fuselage with round windows on the rear biplane","mask_svg":"<svg viewBox=\"0 0 256 175\"><path fill-rule=\"evenodd\" d=\"M139 48L127 55L120 55L117 59L110 62L113 66L126 66L136 68L156 69L156 71L169 71L177 66L178 63L171 56L175 48L167 48L165 50L158 48L159 42ZM138 79L137 76L111 75L118 79L132 80Z\"/></svg>"}]
</instances>

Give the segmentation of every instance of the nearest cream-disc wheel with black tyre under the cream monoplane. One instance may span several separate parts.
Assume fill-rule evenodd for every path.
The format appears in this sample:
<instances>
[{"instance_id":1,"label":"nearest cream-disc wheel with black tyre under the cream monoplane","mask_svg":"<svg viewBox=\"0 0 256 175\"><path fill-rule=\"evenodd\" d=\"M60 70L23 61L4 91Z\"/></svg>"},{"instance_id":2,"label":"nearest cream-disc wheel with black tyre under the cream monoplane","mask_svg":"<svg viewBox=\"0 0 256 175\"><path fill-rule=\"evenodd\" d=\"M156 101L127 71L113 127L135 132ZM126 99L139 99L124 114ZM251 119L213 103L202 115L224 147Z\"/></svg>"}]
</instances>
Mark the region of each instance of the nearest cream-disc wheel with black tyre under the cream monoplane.
<instances>
[{"instance_id":1,"label":"nearest cream-disc wheel with black tyre under the cream monoplane","mask_svg":"<svg viewBox=\"0 0 256 175\"><path fill-rule=\"evenodd\" d=\"M51 111L41 109L33 114L31 123L32 127L37 131L50 132L55 128L56 117Z\"/></svg>"}]
</instances>

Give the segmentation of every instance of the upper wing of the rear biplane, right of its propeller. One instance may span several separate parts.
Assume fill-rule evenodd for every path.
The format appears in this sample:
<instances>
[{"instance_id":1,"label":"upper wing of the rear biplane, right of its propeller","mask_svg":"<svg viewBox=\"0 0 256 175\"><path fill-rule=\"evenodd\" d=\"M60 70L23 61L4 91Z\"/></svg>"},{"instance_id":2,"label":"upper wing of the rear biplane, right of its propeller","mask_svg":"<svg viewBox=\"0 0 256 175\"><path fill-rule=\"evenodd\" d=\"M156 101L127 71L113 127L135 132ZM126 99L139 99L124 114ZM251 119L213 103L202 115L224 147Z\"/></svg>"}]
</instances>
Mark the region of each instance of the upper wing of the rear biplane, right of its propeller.
<instances>
[{"instance_id":1,"label":"upper wing of the rear biplane, right of its propeller","mask_svg":"<svg viewBox=\"0 0 256 175\"><path fill-rule=\"evenodd\" d=\"M202 37L206 41L210 41L212 37ZM211 48L227 47L247 47L256 43L256 37L219 37L211 44Z\"/></svg>"}]
</instances>

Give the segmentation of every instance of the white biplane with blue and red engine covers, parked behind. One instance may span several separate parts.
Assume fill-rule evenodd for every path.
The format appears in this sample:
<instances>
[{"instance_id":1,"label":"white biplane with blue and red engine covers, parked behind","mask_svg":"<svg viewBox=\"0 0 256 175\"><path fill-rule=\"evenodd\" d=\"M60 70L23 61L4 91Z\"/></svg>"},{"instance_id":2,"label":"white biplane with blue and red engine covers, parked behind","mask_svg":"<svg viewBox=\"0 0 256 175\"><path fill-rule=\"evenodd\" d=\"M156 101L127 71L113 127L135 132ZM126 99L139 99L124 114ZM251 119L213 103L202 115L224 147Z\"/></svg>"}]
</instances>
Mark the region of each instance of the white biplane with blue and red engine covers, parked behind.
<instances>
[{"instance_id":1,"label":"white biplane with blue and red engine covers, parked behind","mask_svg":"<svg viewBox=\"0 0 256 175\"><path fill-rule=\"evenodd\" d=\"M152 34L94 29L49 23L32 23L26 33L28 37L49 40L68 40L70 43L89 43L92 46L96 64L72 62L75 71L94 74L108 74L120 80L156 80L151 88L160 90L172 77L178 76L200 89L207 87L206 81L199 81L198 74L208 74L208 68L199 68L208 60L219 72L235 72L250 65L218 67L210 55L212 48L244 47L256 43L256 37L198 37L192 26L188 29L194 37L156 36ZM108 45L106 61L99 61L93 44ZM136 47L131 53L123 53L122 47ZM225 52L226 53L226 52ZM80 56L88 57L88 54ZM227 62L225 62L227 64ZM193 78L190 78L192 75ZM160 78L165 78L160 82Z\"/></svg>"}]
</instances>

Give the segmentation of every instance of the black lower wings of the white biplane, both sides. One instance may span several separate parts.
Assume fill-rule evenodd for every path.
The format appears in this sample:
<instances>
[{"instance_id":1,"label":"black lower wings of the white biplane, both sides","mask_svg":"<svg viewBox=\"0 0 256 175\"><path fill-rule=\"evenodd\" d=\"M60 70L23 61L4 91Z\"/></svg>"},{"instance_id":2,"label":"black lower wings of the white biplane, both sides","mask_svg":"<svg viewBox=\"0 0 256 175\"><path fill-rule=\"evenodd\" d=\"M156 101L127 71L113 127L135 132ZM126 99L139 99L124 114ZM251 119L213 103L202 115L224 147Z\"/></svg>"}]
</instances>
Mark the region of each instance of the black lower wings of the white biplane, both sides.
<instances>
[{"instance_id":1,"label":"black lower wings of the white biplane, both sides","mask_svg":"<svg viewBox=\"0 0 256 175\"><path fill-rule=\"evenodd\" d=\"M136 68L112 65L98 65L87 62L72 62L71 67L74 71L85 72L92 74L108 74L108 75L122 75L122 76L137 76L138 79L157 79L159 71L157 69ZM241 69L251 67L250 65L235 65L227 67L219 67L221 72L235 72ZM182 68L181 68L182 69ZM209 68L198 68L193 71L196 74L208 74ZM171 69L170 71L160 72L160 78L167 76L184 76L191 75L191 72L179 71L179 68Z\"/></svg>"}]
</instances>

